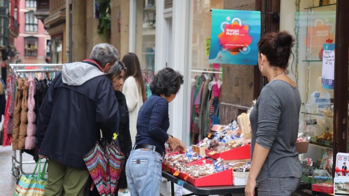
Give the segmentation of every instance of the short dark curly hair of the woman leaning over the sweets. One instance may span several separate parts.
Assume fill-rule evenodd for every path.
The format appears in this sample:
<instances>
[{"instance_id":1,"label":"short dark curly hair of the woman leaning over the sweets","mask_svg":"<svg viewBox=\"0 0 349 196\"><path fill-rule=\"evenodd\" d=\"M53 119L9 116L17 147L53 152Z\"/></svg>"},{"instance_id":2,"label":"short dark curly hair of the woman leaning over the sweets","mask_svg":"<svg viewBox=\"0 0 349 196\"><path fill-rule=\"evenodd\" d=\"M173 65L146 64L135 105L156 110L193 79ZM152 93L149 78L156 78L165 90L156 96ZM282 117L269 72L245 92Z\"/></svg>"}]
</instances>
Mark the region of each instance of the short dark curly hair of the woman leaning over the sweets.
<instances>
[{"instance_id":1,"label":"short dark curly hair of the woman leaning over the sweets","mask_svg":"<svg viewBox=\"0 0 349 196\"><path fill-rule=\"evenodd\" d=\"M173 69L166 67L160 70L150 83L153 94L165 94L166 97L176 94L183 84L183 75Z\"/></svg>"}]
</instances>

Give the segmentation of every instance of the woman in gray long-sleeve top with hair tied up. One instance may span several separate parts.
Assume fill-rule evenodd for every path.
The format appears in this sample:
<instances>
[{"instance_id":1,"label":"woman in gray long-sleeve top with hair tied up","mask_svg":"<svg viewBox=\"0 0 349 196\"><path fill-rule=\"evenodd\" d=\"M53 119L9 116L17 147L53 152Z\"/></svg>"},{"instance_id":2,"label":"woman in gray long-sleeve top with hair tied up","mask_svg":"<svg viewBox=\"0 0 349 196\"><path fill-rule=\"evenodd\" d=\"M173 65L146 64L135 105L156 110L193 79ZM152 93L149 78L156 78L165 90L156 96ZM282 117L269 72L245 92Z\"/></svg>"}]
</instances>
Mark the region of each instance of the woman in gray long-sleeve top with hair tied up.
<instances>
[{"instance_id":1,"label":"woman in gray long-sleeve top with hair tied up","mask_svg":"<svg viewBox=\"0 0 349 196\"><path fill-rule=\"evenodd\" d=\"M295 149L301 96L286 75L294 38L288 32L266 34L258 42L258 66L267 84L250 114L252 168L246 196L291 196L301 181Z\"/></svg>"}]
</instances>

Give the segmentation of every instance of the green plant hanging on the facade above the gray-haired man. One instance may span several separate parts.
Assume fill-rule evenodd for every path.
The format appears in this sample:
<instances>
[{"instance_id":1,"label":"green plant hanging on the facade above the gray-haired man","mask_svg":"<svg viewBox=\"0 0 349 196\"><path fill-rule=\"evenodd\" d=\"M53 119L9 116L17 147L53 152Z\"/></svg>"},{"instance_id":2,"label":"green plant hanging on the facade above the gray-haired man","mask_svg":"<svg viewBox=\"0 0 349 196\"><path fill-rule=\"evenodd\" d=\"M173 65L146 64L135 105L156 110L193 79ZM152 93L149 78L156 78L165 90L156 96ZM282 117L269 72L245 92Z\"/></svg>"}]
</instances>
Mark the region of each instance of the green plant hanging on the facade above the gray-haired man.
<instances>
[{"instance_id":1,"label":"green plant hanging on the facade above the gray-haired man","mask_svg":"<svg viewBox=\"0 0 349 196\"><path fill-rule=\"evenodd\" d=\"M103 38L107 38L107 32L111 29L111 7L110 0L95 0L99 3L99 24L97 28L98 34L103 34Z\"/></svg>"}]
</instances>

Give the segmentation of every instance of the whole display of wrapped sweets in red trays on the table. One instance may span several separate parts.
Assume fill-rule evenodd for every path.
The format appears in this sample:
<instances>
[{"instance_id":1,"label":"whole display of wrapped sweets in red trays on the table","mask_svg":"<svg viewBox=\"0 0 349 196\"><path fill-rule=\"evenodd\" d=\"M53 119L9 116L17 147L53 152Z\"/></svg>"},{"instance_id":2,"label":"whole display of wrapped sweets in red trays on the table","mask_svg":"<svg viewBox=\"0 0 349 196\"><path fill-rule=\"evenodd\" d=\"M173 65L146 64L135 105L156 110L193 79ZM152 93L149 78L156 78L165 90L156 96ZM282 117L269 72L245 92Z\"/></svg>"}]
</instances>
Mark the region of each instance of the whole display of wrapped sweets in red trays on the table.
<instances>
[{"instance_id":1,"label":"whole display of wrapped sweets in red trays on the table","mask_svg":"<svg viewBox=\"0 0 349 196\"><path fill-rule=\"evenodd\" d=\"M249 126L249 121L246 121L246 124ZM180 179L188 180L194 186L246 185L251 169L251 139L246 139L244 136L251 132L242 133L237 121L228 125L216 125L214 129L215 131L196 145L188 147L186 152L167 154L164 157L163 170ZM246 148L241 149L242 147ZM220 156L224 153L225 156ZM241 154L245 158L235 158ZM210 182L206 178L225 180Z\"/></svg>"}]
</instances>

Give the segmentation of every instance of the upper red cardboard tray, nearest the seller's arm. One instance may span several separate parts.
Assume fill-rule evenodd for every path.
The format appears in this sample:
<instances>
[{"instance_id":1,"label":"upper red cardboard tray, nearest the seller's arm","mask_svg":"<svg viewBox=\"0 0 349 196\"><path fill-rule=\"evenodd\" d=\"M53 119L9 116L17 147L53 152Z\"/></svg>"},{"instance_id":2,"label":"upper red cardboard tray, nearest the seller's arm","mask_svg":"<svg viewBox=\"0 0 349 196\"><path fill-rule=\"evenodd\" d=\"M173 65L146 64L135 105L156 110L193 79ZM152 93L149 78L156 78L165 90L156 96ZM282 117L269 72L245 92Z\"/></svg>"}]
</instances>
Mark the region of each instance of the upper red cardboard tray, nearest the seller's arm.
<instances>
[{"instance_id":1,"label":"upper red cardboard tray, nearest the seller's arm","mask_svg":"<svg viewBox=\"0 0 349 196\"><path fill-rule=\"evenodd\" d=\"M210 151L206 149L206 156L218 159L222 158L224 160L240 160L240 159L251 159L251 144L246 146L241 146L230 151L217 152Z\"/></svg>"}]
</instances>

